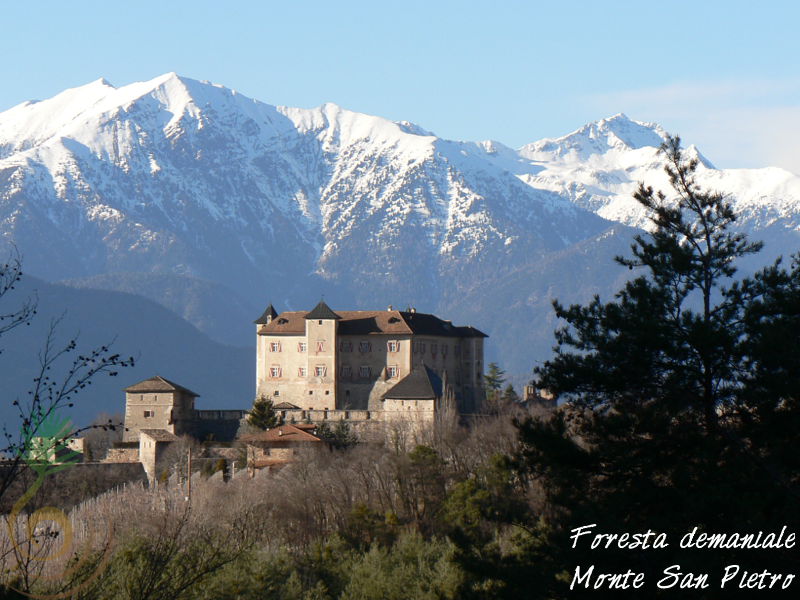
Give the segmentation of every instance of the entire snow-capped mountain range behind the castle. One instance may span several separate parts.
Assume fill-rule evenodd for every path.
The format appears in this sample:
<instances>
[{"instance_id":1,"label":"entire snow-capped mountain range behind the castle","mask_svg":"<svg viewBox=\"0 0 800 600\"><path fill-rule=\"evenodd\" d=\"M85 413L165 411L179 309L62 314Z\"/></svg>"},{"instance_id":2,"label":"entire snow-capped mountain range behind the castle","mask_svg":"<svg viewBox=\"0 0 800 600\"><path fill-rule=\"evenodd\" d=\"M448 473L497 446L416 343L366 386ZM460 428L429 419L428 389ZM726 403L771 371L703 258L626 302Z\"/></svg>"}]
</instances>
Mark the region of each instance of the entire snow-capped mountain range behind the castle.
<instances>
[{"instance_id":1,"label":"entire snow-capped mountain range behind the castle","mask_svg":"<svg viewBox=\"0 0 800 600\"><path fill-rule=\"evenodd\" d=\"M415 306L488 333L487 361L519 383L549 356L552 299L610 297L628 276L613 256L647 227L638 182L668 189L665 137L618 114L515 150L174 73L100 79L0 113L0 233L59 293L161 304L208 344L252 348L268 302ZM800 247L800 178L687 152L766 241L759 263ZM109 333L122 340L135 315ZM194 360L186 340L170 343L167 377ZM240 373L222 377L242 390ZM246 389L225 405L249 404Z\"/></svg>"}]
</instances>

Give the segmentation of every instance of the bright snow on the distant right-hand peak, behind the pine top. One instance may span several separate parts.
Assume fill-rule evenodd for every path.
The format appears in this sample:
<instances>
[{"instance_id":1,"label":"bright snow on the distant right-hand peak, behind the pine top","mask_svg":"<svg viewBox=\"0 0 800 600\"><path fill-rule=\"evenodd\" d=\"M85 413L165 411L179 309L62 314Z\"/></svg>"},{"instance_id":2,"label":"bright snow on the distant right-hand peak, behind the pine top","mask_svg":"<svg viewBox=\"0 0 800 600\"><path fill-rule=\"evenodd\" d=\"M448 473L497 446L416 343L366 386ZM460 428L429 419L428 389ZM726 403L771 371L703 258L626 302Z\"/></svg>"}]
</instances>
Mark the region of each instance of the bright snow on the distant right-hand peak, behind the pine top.
<instances>
[{"instance_id":1,"label":"bright snow on the distant right-hand peak, behind the pine top","mask_svg":"<svg viewBox=\"0 0 800 600\"><path fill-rule=\"evenodd\" d=\"M632 194L644 182L669 195L664 160L657 152L666 132L658 125L615 115L557 139L523 146L520 156L531 170L517 173L528 185L555 192L577 205L634 227L648 226ZM687 153L700 160L698 183L728 194L740 227L758 238L773 227L798 238L775 253L800 247L800 178L778 168L716 169L695 146Z\"/></svg>"}]
</instances>

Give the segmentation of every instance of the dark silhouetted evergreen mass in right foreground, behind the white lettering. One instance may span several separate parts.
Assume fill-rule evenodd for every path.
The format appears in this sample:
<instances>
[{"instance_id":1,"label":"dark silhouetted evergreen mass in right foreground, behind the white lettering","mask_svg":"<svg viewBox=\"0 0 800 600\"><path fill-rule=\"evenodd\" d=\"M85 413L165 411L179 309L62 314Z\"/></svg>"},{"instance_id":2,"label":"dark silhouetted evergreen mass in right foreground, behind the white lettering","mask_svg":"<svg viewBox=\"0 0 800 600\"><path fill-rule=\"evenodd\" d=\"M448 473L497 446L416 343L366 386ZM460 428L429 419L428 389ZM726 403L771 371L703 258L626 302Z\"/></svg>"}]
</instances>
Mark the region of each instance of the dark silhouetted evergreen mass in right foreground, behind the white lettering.
<instances>
[{"instance_id":1,"label":"dark silhouetted evergreen mass in right foreground, behind the white lettering","mask_svg":"<svg viewBox=\"0 0 800 600\"><path fill-rule=\"evenodd\" d=\"M798 429L781 424L798 422L798 358L775 348L798 347L797 261L789 272L774 265L733 282L735 260L761 244L731 231L730 204L697 185L698 162L678 138L661 151L676 197L639 187L652 232L635 238L632 257L617 258L645 274L609 303L554 303L566 325L554 358L535 372L537 387L567 404L520 427L520 465L546 492L560 568L625 572L631 564L630 553L571 550L574 527L669 532L669 550L636 558L651 582L670 564L713 572L741 560L681 553L674 537L693 526L757 532L797 523L798 461L789 448ZM773 570L790 564L779 552L768 561ZM568 593L556 586L553 596Z\"/></svg>"}]
</instances>

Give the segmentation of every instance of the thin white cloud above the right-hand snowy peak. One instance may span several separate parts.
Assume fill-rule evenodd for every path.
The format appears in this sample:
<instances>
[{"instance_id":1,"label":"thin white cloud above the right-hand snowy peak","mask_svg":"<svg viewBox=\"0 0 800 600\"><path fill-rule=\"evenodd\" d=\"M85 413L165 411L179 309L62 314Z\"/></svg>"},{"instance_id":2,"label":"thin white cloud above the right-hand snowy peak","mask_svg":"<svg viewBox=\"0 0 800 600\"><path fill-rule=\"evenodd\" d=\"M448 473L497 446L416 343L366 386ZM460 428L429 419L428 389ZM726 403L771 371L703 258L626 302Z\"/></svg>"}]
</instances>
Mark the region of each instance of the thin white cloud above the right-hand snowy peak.
<instances>
[{"instance_id":1,"label":"thin white cloud above the right-hand snowy peak","mask_svg":"<svg viewBox=\"0 0 800 600\"><path fill-rule=\"evenodd\" d=\"M656 121L719 167L778 166L800 174L800 79L683 82L600 93L603 114Z\"/></svg>"}]
</instances>

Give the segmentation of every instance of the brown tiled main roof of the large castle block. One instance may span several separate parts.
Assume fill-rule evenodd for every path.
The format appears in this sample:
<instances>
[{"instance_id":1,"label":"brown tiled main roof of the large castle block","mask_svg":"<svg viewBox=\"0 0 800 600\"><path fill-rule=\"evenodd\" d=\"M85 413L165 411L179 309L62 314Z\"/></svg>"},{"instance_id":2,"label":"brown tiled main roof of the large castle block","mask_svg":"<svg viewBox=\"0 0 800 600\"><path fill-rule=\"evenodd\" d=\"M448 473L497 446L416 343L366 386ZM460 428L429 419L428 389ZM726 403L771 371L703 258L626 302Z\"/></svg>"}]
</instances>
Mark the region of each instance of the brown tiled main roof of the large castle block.
<instances>
[{"instance_id":1,"label":"brown tiled main roof of the large castle block","mask_svg":"<svg viewBox=\"0 0 800 600\"><path fill-rule=\"evenodd\" d=\"M277 318L273 318L269 324L262 325L258 333L260 335L303 335L306 332L305 319L320 318L313 313L314 311L310 313L284 311ZM339 335L383 333L457 338L487 337L485 333L474 327L459 327L435 315L414 311L344 310L333 314L339 318Z\"/></svg>"}]
</instances>

